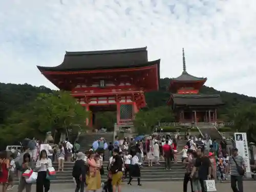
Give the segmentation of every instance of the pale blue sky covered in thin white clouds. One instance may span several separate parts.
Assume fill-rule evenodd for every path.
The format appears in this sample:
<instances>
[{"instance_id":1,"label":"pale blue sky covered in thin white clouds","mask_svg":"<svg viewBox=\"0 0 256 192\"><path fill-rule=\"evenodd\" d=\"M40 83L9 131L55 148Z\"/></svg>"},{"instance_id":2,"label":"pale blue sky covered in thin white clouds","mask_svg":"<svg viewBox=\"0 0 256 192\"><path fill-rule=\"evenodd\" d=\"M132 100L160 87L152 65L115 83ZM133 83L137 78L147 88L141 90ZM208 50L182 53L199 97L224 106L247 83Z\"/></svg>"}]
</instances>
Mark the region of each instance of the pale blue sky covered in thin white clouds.
<instances>
[{"instance_id":1,"label":"pale blue sky covered in thin white clouds","mask_svg":"<svg viewBox=\"0 0 256 192\"><path fill-rule=\"evenodd\" d=\"M161 78L187 71L218 90L256 96L255 0L2 0L0 82L56 89L36 66L65 51L147 46Z\"/></svg>"}]
</instances>

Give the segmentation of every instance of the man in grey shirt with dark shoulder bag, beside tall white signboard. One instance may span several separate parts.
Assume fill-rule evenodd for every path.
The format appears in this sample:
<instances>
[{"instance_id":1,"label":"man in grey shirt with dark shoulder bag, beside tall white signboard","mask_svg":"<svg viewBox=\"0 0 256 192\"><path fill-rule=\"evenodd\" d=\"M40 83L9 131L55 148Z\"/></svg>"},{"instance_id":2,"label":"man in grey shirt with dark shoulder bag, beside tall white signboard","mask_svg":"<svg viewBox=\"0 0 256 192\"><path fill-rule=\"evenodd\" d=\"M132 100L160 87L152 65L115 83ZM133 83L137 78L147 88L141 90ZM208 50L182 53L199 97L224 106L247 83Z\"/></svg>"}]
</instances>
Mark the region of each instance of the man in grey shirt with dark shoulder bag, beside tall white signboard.
<instances>
[{"instance_id":1,"label":"man in grey shirt with dark shoulder bag, beside tall white signboard","mask_svg":"<svg viewBox=\"0 0 256 192\"><path fill-rule=\"evenodd\" d=\"M240 175L238 173L237 166L243 167L244 171L246 170L243 157L238 155L237 148L233 148L232 156L229 157L229 172L230 172L231 188L233 192L243 192L244 191L243 175Z\"/></svg>"}]
</instances>

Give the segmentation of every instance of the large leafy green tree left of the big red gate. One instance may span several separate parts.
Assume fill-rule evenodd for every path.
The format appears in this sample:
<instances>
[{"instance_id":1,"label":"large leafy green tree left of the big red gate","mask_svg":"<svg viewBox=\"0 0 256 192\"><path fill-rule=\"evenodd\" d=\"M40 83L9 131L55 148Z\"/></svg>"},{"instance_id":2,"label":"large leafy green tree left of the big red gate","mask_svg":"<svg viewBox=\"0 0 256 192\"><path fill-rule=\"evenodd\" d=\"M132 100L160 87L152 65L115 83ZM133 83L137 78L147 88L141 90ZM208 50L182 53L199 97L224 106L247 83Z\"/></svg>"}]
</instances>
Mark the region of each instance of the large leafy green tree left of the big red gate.
<instances>
[{"instance_id":1,"label":"large leafy green tree left of the big red gate","mask_svg":"<svg viewBox=\"0 0 256 192\"><path fill-rule=\"evenodd\" d=\"M39 94L26 108L12 113L2 129L3 137L15 129L14 139L38 137L44 139L46 133L68 134L68 130L86 127L88 117L83 107L67 92ZM1 136L0 136L1 137Z\"/></svg>"}]
</instances>

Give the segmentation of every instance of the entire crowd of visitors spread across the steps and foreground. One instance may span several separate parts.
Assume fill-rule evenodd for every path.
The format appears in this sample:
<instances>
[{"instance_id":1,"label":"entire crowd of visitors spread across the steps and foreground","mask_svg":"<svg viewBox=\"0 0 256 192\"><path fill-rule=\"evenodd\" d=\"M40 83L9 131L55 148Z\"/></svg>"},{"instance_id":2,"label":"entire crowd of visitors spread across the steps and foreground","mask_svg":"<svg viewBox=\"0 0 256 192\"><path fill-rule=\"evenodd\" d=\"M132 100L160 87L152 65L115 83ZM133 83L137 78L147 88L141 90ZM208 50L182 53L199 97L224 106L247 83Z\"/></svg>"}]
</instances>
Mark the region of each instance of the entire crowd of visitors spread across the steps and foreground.
<instances>
[{"instance_id":1,"label":"entire crowd of visitors spread across the steps and foreground","mask_svg":"<svg viewBox=\"0 0 256 192\"><path fill-rule=\"evenodd\" d=\"M233 148L232 156L228 155L225 140L218 143L211 141L209 137L197 138L186 135L186 145L178 151L177 145L180 136L174 138L169 135L152 135L148 137L138 136L136 138L124 138L118 136L115 141L106 144L104 138L95 141L87 152L80 152L78 143L65 142L54 145L51 143L40 144L37 140L29 140L24 145L24 152L1 153L0 156L0 183L3 183L3 192L13 186L13 176L19 176L18 191L26 188L31 191L31 183L27 183L22 176L28 169L34 169L38 175L36 179L36 191L49 191L50 180L48 169L52 162L58 162L58 170L63 171L64 161L75 161L72 176L76 182L76 191L83 191L84 186L88 190L121 191L121 182L129 178L127 184L132 185L133 178L137 178L141 185L140 169L142 166L153 166L159 164L159 160L165 161L165 169L172 169L172 164L181 160L185 166L183 191L187 191L190 181L191 191L205 191L204 181L207 179L226 180L230 175L231 188L233 191L243 191L242 174L238 170L241 166L245 173L243 158L238 155L237 148ZM103 167L106 150L109 151L109 165ZM15 154L17 157L15 157ZM178 159L181 154L181 159ZM108 170L108 179L101 180L104 168ZM243 174L244 174L243 173ZM237 187L238 186L238 187ZM45 190L43 190L45 188Z\"/></svg>"}]
</instances>

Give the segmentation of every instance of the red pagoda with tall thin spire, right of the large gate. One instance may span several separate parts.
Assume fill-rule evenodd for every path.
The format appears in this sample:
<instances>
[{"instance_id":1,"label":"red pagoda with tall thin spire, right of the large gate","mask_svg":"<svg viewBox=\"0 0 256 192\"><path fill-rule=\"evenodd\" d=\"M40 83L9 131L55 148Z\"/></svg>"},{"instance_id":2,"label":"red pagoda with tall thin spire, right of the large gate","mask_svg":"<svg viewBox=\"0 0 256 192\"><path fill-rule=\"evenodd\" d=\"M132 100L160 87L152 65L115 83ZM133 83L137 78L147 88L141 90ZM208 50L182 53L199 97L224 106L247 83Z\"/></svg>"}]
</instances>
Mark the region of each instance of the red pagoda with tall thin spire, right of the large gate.
<instances>
[{"instance_id":1,"label":"red pagoda with tall thin spire, right of the large gate","mask_svg":"<svg viewBox=\"0 0 256 192\"><path fill-rule=\"evenodd\" d=\"M222 105L220 95L203 95L199 90L207 78L190 75L186 71L184 49L183 72L180 76L172 78L168 90L170 98L167 104L172 106L179 122L215 122L217 121L217 108Z\"/></svg>"}]
</instances>

